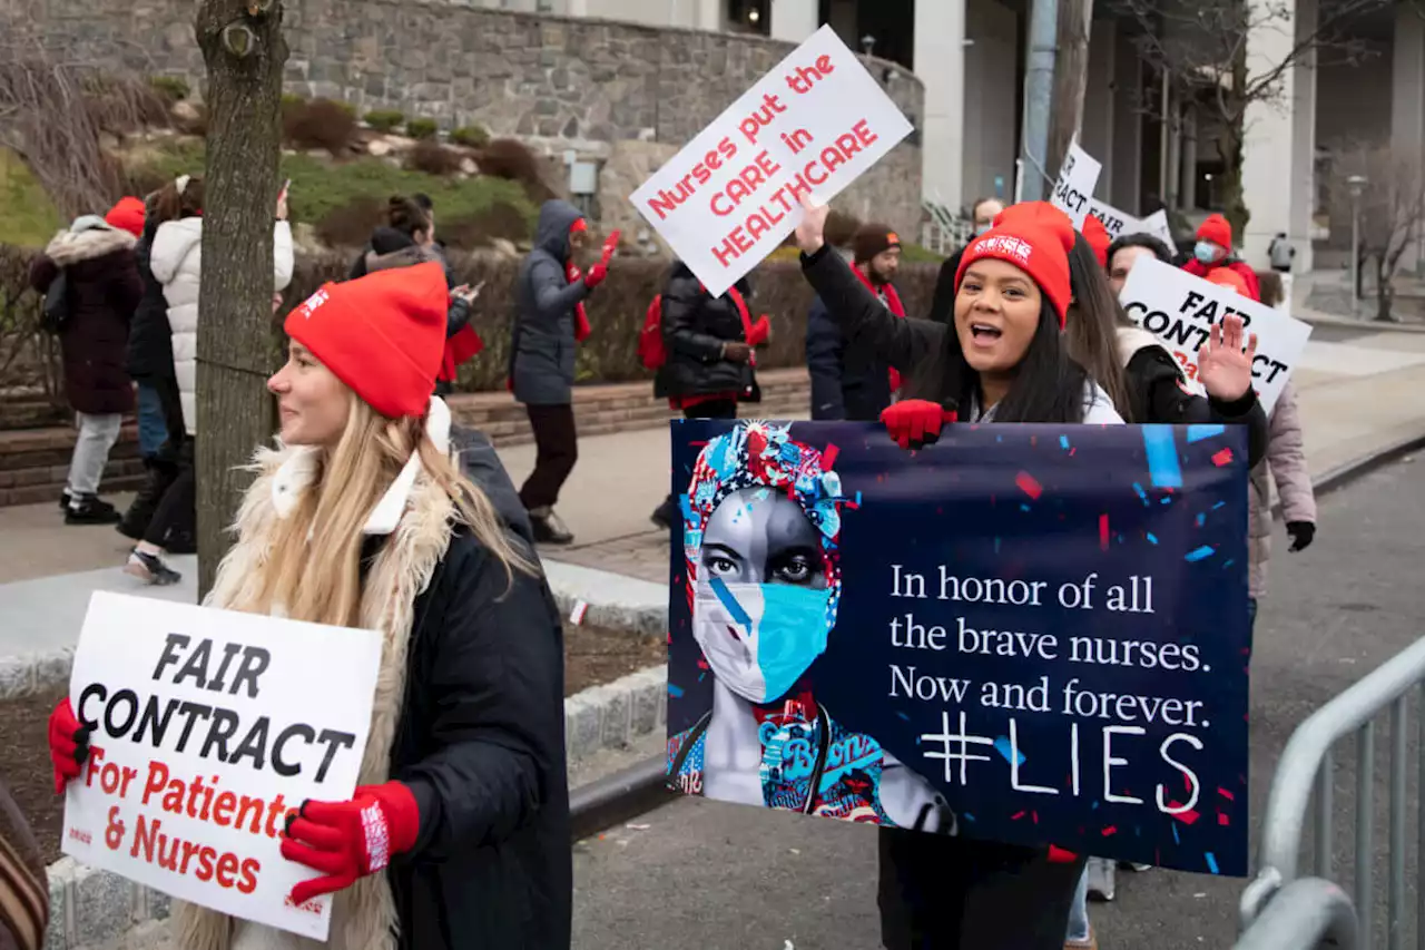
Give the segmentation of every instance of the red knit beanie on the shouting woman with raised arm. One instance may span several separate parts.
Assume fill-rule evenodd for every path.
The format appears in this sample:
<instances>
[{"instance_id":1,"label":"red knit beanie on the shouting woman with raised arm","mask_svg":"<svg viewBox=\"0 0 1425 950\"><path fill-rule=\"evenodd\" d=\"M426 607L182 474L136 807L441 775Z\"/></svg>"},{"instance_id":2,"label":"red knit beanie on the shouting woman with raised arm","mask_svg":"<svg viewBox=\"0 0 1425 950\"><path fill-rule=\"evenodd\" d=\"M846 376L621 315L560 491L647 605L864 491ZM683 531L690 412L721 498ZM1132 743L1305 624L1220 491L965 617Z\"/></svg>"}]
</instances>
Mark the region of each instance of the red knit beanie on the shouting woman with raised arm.
<instances>
[{"instance_id":1,"label":"red knit beanie on the shouting woman with raised arm","mask_svg":"<svg viewBox=\"0 0 1425 950\"><path fill-rule=\"evenodd\" d=\"M1059 315L1063 330L1073 291L1069 287L1069 248L1074 242L1073 223L1047 201L1026 201L1005 208L995 227L970 241L955 274L959 290L965 271L978 260L995 258L1029 274Z\"/></svg>"}]
</instances>

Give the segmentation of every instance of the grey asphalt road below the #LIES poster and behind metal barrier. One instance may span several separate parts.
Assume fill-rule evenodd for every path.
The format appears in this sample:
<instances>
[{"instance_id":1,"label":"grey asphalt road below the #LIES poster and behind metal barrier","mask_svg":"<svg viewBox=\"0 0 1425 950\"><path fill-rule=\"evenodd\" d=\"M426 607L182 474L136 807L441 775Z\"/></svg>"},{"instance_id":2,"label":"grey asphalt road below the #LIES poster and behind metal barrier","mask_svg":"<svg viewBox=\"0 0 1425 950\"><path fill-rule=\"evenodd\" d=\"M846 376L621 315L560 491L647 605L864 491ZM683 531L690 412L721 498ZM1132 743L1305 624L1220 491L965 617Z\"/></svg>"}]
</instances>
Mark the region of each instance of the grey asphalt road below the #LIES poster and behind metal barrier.
<instances>
[{"instance_id":1,"label":"grey asphalt road below the #LIES poster and behind metal barrier","mask_svg":"<svg viewBox=\"0 0 1425 950\"><path fill-rule=\"evenodd\" d=\"M1387 466L1325 498L1317 541L1305 552L1285 553L1280 535L1278 529L1253 658L1254 846L1291 730L1422 632L1425 459ZM1375 783L1382 843L1385 732L1382 726L1378 735ZM1418 755L1414 726L1409 736ZM1347 889L1354 867L1354 760L1347 743L1337 756L1335 782L1335 867ZM1409 772L1406 840L1416 842L1419 790L1415 769ZM1384 902L1385 849L1375 850L1377 893ZM865 826L683 799L581 842L574 860L580 950L879 946L875 830ZM1409 866L1414 870L1415 862ZM1164 870L1120 873L1117 900L1094 904L1090 916L1106 950L1230 947L1244 883ZM1415 906L1414 886L1412 877L1406 907ZM1384 936L1378 946L1385 946Z\"/></svg>"}]
</instances>

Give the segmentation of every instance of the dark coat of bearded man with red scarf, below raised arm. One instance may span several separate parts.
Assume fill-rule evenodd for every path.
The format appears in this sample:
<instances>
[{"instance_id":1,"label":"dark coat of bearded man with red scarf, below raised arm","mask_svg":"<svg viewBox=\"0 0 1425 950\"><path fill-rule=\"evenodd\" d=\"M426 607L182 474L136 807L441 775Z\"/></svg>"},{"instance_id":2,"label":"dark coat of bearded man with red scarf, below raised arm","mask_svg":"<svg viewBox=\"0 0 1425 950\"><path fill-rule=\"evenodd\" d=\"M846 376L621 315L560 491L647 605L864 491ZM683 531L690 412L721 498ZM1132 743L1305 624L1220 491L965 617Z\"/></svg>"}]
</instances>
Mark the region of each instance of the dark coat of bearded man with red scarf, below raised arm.
<instances>
[{"instance_id":1,"label":"dark coat of bearded man with red scarf, below raised arm","mask_svg":"<svg viewBox=\"0 0 1425 950\"><path fill-rule=\"evenodd\" d=\"M811 371L811 418L875 422L891 405L891 367L866 342L842 334L817 298L807 318L807 368Z\"/></svg>"}]
</instances>

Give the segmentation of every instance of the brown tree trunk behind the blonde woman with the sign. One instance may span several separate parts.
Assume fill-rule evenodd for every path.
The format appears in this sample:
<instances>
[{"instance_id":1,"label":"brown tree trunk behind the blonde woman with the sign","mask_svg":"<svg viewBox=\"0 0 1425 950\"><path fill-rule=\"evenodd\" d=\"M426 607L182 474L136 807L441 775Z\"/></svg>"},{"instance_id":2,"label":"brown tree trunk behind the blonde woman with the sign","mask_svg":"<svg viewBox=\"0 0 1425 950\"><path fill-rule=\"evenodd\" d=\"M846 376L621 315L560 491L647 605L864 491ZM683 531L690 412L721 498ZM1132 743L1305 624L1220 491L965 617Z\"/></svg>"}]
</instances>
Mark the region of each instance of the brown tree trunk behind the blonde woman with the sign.
<instances>
[{"instance_id":1,"label":"brown tree trunk behind the blonde woman with the sign","mask_svg":"<svg viewBox=\"0 0 1425 950\"><path fill-rule=\"evenodd\" d=\"M198 586L207 595L242 491L272 435L272 220L281 160L282 0L201 0L208 67L198 294Z\"/></svg>"}]
</instances>

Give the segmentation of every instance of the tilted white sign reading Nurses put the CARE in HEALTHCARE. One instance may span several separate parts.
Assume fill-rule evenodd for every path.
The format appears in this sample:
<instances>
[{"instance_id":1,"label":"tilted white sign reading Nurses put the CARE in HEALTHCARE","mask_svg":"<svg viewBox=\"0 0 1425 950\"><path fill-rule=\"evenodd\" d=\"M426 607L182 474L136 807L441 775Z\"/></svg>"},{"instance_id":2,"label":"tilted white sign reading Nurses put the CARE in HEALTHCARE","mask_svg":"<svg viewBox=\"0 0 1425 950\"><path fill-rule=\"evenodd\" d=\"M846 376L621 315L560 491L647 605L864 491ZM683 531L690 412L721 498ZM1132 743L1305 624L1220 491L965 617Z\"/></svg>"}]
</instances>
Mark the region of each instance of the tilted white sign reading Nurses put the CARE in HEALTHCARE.
<instances>
[{"instance_id":1,"label":"tilted white sign reading Nurses put the CARE in HEALTHCARE","mask_svg":"<svg viewBox=\"0 0 1425 950\"><path fill-rule=\"evenodd\" d=\"M871 168L911 123L825 26L660 168L631 201L721 295Z\"/></svg>"}]
</instances>

